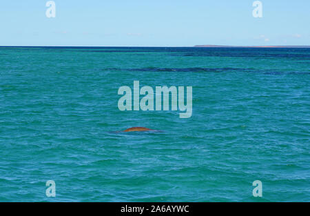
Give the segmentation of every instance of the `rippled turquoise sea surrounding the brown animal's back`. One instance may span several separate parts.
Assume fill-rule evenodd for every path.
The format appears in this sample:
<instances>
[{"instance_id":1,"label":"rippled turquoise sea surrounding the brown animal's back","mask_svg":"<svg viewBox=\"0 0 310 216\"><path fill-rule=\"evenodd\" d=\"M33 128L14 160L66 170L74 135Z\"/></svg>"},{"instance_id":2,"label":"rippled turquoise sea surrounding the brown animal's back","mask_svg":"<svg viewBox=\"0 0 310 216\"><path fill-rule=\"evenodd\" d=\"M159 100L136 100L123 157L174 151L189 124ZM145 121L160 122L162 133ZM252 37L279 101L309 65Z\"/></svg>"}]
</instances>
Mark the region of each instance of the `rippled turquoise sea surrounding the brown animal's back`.
<instances>
[{"instance_id":1,"label":"rippled turquoise sea surrounding the brown animal's back","mask_svg":"<svg viewBox=\"0 0 310 216\"><path fill-rule=\"evenodd\" d=\"M310 49L0 48L0 77L1 202L310 201ZM192 117L118 110L134 80Z\"/></svg>"}]
</instances>

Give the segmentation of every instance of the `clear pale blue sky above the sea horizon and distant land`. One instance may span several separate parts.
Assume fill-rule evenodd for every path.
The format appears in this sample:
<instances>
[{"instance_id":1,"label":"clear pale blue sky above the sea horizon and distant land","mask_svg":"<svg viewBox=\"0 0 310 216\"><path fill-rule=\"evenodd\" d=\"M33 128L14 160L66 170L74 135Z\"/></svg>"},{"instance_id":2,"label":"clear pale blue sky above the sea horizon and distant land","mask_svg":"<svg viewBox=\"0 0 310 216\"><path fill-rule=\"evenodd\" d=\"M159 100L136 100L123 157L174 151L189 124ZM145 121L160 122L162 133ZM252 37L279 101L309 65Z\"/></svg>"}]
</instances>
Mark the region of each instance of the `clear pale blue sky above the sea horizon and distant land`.
<instances>
[{"instance_id":1,"label":"clear pale blue sky above the sea horizon and distant land","mask_svg":"<svg viewBox=\"0 0 310 216\"><path fill-rule=\"evenodd\" d=\"M310 46L309 0L47 1L1 1L0 46Z\"/></svg>"}]
</instances>

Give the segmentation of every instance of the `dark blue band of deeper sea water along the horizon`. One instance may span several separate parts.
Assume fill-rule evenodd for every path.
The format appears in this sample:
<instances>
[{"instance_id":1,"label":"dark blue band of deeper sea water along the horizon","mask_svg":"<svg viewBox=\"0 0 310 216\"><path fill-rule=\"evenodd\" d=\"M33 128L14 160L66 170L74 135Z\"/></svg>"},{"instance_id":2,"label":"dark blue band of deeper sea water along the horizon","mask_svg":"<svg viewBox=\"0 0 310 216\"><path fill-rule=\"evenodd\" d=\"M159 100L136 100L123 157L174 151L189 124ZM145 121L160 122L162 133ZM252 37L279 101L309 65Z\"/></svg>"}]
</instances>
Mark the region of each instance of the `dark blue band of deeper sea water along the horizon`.
<instances>
[{"instance_id":1,"label":"dark blue band of deeper sea water along the horizon","mask_svg":"<svg viewBox=\"0 0 310 216\"><path fill-rule=\"evenodd\" d=\"M257 59L310 59L309 48L193 48L193 47L0 47L6 50L52 52L165 52L176 57L243 57Z\"/></svg>"}]
</instances>

